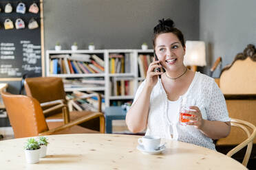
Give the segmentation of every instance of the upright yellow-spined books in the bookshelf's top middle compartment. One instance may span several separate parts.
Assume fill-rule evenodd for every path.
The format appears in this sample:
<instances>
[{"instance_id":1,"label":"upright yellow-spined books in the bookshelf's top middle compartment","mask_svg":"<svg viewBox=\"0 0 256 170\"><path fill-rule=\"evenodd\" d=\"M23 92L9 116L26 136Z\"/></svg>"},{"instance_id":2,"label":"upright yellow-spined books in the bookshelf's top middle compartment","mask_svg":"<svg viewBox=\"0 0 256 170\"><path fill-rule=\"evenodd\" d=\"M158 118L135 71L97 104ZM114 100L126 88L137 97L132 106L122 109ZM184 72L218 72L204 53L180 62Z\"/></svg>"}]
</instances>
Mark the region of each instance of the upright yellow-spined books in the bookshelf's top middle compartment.
<instances>
[{"instance_id":1,"label":"upright yellow-spined books in the bookshelf's top middle compartment","mask_svg":"<svg viewBox=\"0 0 256 170\"><path fill-rule=\"evenodd\" d=\"M109 55L109 73L131 73L131 53Z\"/></svg>"}]
</instances>

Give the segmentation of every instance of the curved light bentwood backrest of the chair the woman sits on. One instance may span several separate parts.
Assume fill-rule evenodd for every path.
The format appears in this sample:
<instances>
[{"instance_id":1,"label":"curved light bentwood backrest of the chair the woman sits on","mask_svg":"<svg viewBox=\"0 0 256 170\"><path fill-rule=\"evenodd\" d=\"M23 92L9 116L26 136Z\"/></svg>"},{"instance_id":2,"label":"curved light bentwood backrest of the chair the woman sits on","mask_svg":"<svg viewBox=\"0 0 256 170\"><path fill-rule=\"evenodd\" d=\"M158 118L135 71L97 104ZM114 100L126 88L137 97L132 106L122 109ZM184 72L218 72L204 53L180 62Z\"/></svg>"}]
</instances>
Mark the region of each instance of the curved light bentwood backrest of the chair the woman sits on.
<instances>
[{"instance_id":1,"label":"curved light bentwood backrest of the chair the woman sits on","mask_svg":"<svg viewBox=\"0 0 256 170\"><path fill-rule=\"evenodd\" d=\"M231 151L228 151L226 155L231 157L233 156L233 154L237 153L237 151L241 150L247 145L246 154L244 155L244 160L242 162L244 166L247 166L248 160L250 158L250 153L253 148L253 139L256 136L256 127L252 123L239 119L231 119L231 125L241 128L246 133L247 138L235 148L231 149Z\"/></svg>"}]
</instances>

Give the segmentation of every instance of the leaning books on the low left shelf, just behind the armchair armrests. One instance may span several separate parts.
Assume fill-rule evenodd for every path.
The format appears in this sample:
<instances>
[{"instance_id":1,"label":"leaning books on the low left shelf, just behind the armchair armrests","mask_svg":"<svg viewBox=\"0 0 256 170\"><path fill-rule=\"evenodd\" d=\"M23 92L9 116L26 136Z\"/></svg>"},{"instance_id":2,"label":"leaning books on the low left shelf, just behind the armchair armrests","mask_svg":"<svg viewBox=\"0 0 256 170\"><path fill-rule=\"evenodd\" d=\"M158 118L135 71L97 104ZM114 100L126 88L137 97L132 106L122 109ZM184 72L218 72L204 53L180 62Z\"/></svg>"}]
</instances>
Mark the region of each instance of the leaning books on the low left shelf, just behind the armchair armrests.
<instances>
[{"instance_id":1,"label":"leaning books on the low left shelf, just behind the armchair armrests","mask_svg":"<svg viewBox=\"0 0 256 170\"><path fill-rule=\"evenodd\" d=\"M91 110L94 112L98 111L98 98L93 96L95 93L83 93L80 91L74 91L71 95L67 95L67 99L70 100L70 106L78 111ZM87 98L89 97L89 98ZM101 101L101 110L105 110L105 99Z\"/></svg>"}]
</instances>

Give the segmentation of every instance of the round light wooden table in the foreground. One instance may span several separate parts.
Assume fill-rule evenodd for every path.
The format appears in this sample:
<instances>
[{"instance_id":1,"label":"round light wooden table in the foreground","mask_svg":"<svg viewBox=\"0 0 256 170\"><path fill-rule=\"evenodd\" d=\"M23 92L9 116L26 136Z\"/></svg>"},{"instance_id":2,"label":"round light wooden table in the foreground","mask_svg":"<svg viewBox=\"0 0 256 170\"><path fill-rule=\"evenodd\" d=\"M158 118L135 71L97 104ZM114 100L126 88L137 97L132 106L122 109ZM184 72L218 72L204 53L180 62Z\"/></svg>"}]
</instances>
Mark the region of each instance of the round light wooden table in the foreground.
<instances>
[{"instance_id":1,"label":"round light wooden table in the foreground","mask_svg":"<svg viewBox=\"0 0 256 170\"><path fill-rule=\"evenodd\" d=\"M136 149L141 136L120 134L65 134L47 136L46 158L27 164L23 145L27 138L0 142L1 169L246 169L217 151L189 143L167 141L159 155Z\"/></svg>"}]
</instances>

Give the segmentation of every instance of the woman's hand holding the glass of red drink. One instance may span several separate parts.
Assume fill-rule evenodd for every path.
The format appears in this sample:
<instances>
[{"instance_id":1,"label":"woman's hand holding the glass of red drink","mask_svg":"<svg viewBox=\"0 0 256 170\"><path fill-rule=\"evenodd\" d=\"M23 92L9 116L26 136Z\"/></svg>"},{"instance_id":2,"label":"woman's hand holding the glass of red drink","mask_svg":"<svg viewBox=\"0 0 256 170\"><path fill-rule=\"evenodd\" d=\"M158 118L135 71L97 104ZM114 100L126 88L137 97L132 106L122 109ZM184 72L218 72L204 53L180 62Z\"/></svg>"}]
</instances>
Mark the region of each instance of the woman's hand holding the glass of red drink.
<instances>
[{"instance_id":1,"label":"woman's hand holding the glass of red drink","mask_svg":"<svg viewBox=\"0 0 256 170\"><path fill-rule=\"evenodd\" d=\"M202 114L198 106L190 106L190 110L188 113L192 114L193 117L186 117L186 119L189 119L191 121L187 122L186 125L194 125L196 128L201 129L204 125L204 119L202 119Z\"/></svg>"}]
</instances>

